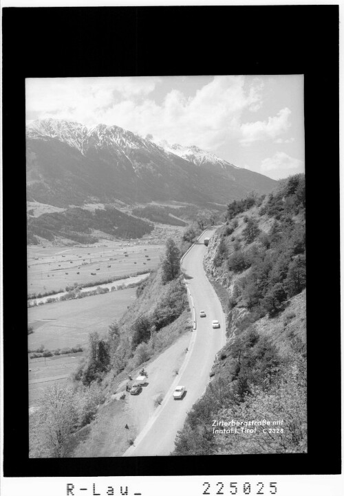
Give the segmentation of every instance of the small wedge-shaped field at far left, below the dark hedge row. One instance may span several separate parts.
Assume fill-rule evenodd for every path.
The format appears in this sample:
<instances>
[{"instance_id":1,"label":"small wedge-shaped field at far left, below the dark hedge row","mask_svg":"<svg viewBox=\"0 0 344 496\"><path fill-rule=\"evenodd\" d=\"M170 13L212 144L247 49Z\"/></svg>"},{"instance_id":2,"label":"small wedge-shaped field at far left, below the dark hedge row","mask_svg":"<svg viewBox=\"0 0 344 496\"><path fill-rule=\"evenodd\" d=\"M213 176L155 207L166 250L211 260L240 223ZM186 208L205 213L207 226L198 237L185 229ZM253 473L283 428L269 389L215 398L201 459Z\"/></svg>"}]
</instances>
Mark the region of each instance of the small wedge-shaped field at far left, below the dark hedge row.
<instances>
[{"instance_id":1,"label":"small wedge-shaped field at far left, below the dark hedge row","mask_svg":"<svg viewBox=\"0 0 344 496\"><path fill-rule=\"evenodd\" d=\"M47 359L29 359L29 370L31 369L29 372L29 406L32 407L39 401L46 387L54 383L65 382L84 354L85 352Z\"/></svg>"}]
</instances>

